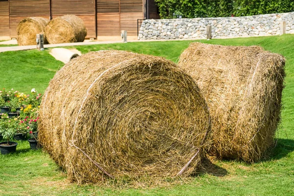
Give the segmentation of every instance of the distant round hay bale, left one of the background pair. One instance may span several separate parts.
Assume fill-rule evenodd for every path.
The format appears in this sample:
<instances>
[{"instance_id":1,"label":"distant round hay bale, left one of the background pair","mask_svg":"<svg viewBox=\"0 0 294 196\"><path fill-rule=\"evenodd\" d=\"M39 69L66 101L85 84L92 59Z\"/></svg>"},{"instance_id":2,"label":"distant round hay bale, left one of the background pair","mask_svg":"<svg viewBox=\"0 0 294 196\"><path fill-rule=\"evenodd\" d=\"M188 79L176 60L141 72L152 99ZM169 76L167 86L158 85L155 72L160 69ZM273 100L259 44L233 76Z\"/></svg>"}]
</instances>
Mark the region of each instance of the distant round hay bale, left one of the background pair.
<instances>
[{"instance_id":1,"label":"distant round hay bale, left one of the background pair","mask_svg":"<svg viewBox=\"0 0 294 196\"><path fill-rule=\"evenodd\" d=\"M17 26L17 43L19 46L36 45L36 34L44 34L49 20L41 17L28 17ZM44 44L48 44L44 36Z\"/></svg>"}]
</instances>

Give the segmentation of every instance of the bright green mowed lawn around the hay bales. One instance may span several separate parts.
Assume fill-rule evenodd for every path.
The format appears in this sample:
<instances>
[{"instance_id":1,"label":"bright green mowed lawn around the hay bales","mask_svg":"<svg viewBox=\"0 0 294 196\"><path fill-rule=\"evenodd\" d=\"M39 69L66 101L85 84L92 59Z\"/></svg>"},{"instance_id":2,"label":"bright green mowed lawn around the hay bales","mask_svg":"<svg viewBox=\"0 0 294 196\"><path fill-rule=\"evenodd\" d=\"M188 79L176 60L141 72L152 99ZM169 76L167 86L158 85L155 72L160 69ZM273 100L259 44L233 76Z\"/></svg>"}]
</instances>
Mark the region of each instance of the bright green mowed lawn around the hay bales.
<instances>
[{"instance_id":1,"label":"bright green mowed lawn around the hay bales","mask_svg":"<svg viewBox=\"0 0 294 196\"><path fill-rule=\"evenodd\" d=\"M120 49L163 56L174 62L194 41L138 42L74 47L82 53L101 49ZM280 53L287 59L286 88L283 92L282 124L277 145L261 162L246 164L234 160L215 161L212 173L200 174L188 181L167 187L124 188L77 185L47 153L29 150L20 142L17 152L0 155L0 195L121 195L121 196L195 196L195 195L294 195L294 35L236 39L199 40L202 43L251 46ZM73 48L73 47L68 47ZM9 51L0 53L0 88L43 93L63 63L45 51ZM164 172L164 171L163 171ZM221 176L220 176L221 175Z\"/></svg>"}]
</instances>

